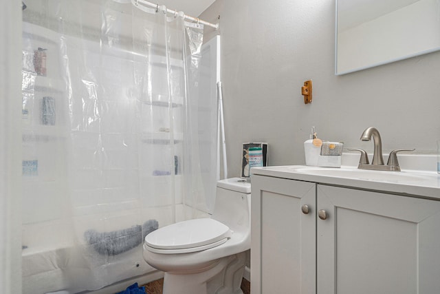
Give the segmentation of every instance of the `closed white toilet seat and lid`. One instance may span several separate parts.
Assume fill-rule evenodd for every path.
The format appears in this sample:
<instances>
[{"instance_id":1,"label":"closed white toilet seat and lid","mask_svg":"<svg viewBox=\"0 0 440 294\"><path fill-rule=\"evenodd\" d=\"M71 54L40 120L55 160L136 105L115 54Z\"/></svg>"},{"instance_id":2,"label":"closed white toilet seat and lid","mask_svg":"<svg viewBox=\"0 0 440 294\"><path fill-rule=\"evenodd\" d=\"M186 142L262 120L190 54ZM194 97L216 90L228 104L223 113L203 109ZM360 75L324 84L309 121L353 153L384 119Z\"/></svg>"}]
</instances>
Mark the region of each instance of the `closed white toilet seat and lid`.
<instances>
[{"instance_id":1,"label":"closed white toilet seat and lid","mask_svg":"<svg viewBox=\"0 0 440 294\"><path fill-rule=\"evenodd\" d=\"M212 218L197 218L162 227L146 235L145 249L154 253L190 253L228 241L232 231Z\"/></svg>"}]
</instances>

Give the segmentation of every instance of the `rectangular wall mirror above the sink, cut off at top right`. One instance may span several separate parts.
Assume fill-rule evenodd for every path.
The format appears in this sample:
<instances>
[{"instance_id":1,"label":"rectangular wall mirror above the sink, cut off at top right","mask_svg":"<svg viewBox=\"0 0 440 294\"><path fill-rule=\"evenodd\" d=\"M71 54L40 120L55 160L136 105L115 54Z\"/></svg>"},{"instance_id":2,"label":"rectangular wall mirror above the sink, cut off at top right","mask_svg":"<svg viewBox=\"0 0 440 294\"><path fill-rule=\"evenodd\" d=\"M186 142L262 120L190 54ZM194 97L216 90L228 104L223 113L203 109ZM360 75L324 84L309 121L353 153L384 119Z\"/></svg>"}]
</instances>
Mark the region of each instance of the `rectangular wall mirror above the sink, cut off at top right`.
<instances>
[{"instance_id":1,"label":"rectangular wall mirror above the sink, cut off at top right","mask_svg":"<svg viewBox=\"0 0 440 294\"><path fill-rule=\"evenodd\" d=\"M437 50L439 0L336 0L336 74Z\"/></svg>"}]
</instances>

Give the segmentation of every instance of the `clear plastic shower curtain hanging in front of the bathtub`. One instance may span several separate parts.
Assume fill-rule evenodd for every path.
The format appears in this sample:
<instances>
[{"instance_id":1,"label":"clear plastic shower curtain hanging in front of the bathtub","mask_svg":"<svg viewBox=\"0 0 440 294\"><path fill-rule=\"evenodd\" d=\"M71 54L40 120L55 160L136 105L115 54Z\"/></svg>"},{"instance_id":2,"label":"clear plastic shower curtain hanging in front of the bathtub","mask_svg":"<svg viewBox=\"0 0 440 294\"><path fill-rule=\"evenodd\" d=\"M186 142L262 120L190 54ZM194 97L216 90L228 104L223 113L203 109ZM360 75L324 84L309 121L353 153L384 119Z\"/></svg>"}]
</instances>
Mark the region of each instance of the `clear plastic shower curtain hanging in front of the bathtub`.
<instances>
[{"instance_id":1,"label":"clear plastic shower curtain hanging in front of the bathtub","mask_svg":"<svg viewBox=\"0 0 440 294\"><path fill-rule=\"evenodd\" d=\"M26 5L23 293L42 282L41 293L95 290L151 271L144 236L209 212L216 167L203 168L212 160L199 156L199 134L217 125L199 127L201 101L215 99L200 95L203 27L164 6Z\"/></svg>"}]
</instances>

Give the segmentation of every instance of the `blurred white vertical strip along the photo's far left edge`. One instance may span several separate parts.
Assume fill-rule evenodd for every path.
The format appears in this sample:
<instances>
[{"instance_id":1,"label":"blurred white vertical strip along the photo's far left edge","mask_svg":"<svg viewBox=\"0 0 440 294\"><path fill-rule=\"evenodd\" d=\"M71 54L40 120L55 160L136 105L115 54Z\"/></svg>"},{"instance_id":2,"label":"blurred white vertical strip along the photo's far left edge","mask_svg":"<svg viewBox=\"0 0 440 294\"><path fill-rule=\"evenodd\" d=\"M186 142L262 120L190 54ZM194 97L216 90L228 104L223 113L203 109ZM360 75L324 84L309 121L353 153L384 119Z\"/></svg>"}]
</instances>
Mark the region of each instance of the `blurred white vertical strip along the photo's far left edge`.
<instances>
[{"instance_id":1,"label":"blurred white vertical strip along the photo's far left edge","mask_svg":"<svg viewBox=\"0 0 440 294\"><path fill-rule=\"evenodd\" d=\"M0 293L21 293L21 7L0 10Z\"/></svg>"}]
</instances>

